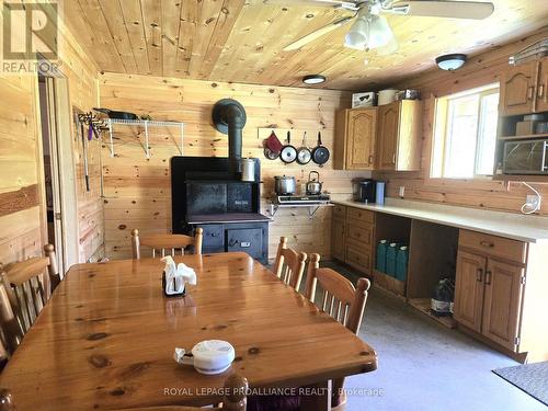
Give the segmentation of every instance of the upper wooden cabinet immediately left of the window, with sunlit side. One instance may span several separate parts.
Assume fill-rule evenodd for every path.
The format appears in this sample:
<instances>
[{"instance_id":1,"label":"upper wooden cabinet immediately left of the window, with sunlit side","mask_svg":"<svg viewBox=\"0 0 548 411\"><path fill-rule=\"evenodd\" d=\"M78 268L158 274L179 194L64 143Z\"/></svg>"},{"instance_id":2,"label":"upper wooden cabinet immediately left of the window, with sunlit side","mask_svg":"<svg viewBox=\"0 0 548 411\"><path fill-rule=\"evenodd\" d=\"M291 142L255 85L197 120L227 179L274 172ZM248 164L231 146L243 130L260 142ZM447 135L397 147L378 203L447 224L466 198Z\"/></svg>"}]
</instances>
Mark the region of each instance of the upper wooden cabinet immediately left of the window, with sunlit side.
<instances>
[{"instance_id":1,"label":"upper wooden cabinet immediately left of the window, with sunlit side","mask_svg":"<svg viewBox=\"0 0 548 411\"><path fill-rule=\"evenodd\" d=\"M377 170L421 169L422 104L402 100L378 107Z\"/></svg>"}]
</instances>

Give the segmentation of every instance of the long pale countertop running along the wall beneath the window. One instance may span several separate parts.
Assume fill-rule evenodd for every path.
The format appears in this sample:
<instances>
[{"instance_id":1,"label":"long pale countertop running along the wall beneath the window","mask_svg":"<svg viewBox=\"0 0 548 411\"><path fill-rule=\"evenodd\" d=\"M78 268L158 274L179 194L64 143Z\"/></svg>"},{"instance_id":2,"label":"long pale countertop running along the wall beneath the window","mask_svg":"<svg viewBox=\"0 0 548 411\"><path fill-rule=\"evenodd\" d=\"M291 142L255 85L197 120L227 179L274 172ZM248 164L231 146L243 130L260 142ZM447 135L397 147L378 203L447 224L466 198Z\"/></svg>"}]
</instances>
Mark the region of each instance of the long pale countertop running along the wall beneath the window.
<instances>
[{"instance_id":1,"label":"long pale countertop running along the wall beneath the window","mask_svg":"<svg viewBox=\"0 0 548 411\"><path fill-rule=\"evenodd\" d=\"M548 217L490 212L399 198L386 198L385 205L363 204L347 199L332 199L331 202L518 241L548 241Z\"/></svg>"}]
</instances>

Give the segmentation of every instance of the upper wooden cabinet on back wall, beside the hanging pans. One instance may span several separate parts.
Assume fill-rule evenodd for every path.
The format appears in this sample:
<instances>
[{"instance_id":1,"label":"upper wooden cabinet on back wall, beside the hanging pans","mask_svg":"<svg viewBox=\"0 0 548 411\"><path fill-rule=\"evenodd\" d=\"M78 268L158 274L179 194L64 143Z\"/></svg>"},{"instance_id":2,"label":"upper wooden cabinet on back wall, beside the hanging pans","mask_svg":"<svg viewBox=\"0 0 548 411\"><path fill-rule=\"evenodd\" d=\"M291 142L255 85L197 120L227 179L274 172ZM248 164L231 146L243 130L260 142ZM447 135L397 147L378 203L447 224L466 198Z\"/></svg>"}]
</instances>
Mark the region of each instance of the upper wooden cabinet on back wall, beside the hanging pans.
<instances>
[{"instance_id":1,"label":"upper wooden cabinet on back wall, beside the hanging pans","mask_svg":"<svg viewBox=\"0 0 548 411\"><path fill-rule=\"evenodd\" d=\"M334 165L373 170L376 161L377 107L342 110L336 118Z\"/></svg>"}]
</instances>

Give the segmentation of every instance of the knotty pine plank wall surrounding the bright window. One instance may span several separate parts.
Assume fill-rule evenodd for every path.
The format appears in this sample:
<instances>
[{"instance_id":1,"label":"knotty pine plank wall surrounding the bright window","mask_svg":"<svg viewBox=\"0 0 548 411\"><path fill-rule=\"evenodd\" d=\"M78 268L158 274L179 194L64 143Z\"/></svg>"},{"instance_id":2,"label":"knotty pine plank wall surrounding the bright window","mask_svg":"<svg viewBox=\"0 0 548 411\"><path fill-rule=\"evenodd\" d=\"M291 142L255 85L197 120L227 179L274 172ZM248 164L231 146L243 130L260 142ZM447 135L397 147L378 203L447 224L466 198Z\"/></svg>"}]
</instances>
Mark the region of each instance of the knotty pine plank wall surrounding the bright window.
<instances>
[{"instance_id":1,"label":"knotty pine plank wall surrounding the bright window","mask_svg":"<svg viewBox=\"0 0 548 411\"><path fill-rule=\"evenodd\" d=\"M409 199L520 213L522 204L525 203L525 196L533 194L521 183L511 183L509 186L503 182L490 179L448 180L429 178L434 100L435 96L498 82L501 73L507 68L507 60L512 54L547 36L548 27L544 27L518 42L471 58L461 69L455 72L436 69L396 84L396 88L421 90L424 100L422 171L406 173L375 172L375 178L388 182L387 195L398 197L399 186L402 185L406 186L406 198ZM548 198L547 184L532 183L532 185L545 198ZM540 214L548 214L548 202L543 202Z\"/></svg>"}]
</instances>

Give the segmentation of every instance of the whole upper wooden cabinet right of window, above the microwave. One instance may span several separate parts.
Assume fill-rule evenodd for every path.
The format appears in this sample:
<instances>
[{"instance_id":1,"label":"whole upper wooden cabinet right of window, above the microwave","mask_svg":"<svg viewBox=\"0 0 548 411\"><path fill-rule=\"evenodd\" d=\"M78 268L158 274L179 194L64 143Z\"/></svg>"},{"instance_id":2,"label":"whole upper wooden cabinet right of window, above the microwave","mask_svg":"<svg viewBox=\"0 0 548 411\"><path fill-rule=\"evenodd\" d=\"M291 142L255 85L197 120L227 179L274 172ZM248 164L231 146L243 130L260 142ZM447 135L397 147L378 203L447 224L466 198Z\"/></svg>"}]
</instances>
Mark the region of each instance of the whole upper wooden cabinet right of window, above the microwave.
<instances>
[{"instance_id":1,"label":"whole upper wooden cabinet right of window, above the microwave","mask_svg":"<svg viewBox=\"0 0 548 411\"><path fill-rule=\"evenodd\" d=\"M548 111L548 57L540 61L509 67L501 79L502 115Z\"/></svg>"}]
</instances>

